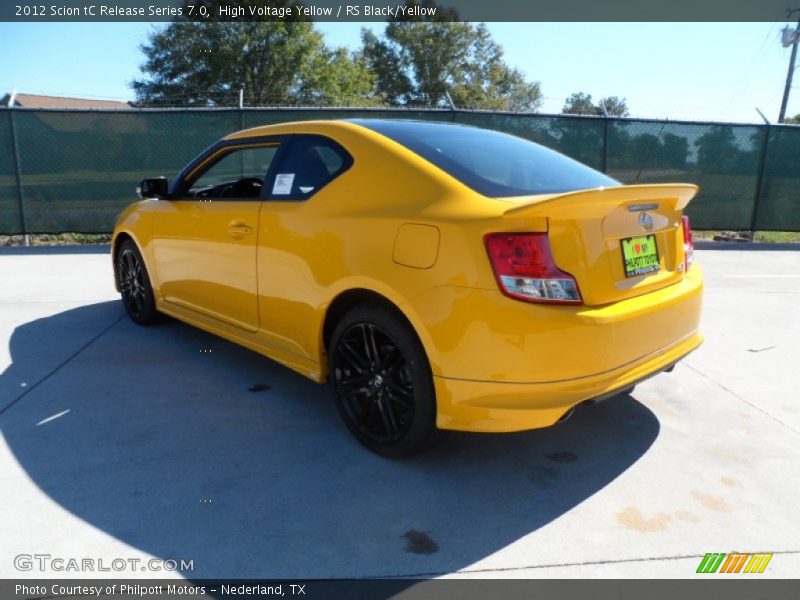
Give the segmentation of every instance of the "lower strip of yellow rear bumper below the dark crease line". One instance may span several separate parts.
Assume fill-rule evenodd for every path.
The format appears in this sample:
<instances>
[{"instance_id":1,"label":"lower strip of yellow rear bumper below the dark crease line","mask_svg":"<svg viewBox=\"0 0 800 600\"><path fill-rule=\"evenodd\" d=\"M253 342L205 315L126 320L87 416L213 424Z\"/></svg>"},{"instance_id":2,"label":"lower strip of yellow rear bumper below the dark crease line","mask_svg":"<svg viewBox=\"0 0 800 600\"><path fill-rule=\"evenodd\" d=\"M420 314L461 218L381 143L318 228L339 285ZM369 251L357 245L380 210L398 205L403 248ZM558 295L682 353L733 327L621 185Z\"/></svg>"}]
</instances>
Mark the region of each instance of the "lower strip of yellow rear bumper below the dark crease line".
<instances>
[{"instance_id":1,"label":"lower strip of yellow rear bumper below the dark crease line","mask_svg":"<svg viewBox=\"0 0 800 600\"><path fill-rule=\"evenodd\" d=\"M440 429L507 432L554 425L577 404L613 396L669 369L703 342L694 333L634 364L589 377L547 383L501 383L434 377Z\"/></svg>"}]
</instances>

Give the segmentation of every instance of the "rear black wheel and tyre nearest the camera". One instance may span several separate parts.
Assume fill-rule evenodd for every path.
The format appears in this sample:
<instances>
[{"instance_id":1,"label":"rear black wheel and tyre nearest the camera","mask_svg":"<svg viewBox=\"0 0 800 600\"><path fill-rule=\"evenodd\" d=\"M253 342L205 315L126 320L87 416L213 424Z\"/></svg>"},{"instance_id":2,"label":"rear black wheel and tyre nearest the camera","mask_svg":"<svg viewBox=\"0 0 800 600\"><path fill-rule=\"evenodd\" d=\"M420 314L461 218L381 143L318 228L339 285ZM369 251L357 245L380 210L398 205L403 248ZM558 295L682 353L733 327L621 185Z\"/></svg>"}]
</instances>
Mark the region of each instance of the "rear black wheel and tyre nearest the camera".
<instances>
[{"instance_id":1,"label":"rear black wheel and tyre nearest the camera","mask_svg":"<svg viewBox=\"0 0 800 600\"><path fill-rule=\"evenodd\" d=\"M379 306L356 306L336 324L328 357L339 414L361 444L402 458L437 441L430 364L403 319Z\"/></svg>"}]
</instances>

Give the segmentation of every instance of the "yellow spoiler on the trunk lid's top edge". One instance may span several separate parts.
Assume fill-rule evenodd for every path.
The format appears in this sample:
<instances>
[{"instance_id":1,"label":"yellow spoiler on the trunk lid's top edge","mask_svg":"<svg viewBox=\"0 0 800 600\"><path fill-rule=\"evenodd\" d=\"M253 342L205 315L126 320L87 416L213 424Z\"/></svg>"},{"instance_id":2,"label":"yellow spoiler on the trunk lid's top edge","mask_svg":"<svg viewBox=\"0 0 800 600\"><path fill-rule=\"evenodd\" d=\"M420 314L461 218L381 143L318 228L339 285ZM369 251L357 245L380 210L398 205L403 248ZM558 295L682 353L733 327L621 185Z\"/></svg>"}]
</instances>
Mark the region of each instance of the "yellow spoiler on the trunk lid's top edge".
<instances>
[{"instance_id":1,"label":"yellow spoiler on the trunk lid's top edge","mask_svg":"<svg viewBox=\"0 0 800 600\"><path fill-rule=\"evenodd\" d=\"M530 202L509 208L503 217L600 218L614 208L630 204L636 210L656 210L665 203L672 210L682 210L695 197L699 188L691 183L656 183L621 185L556 194L534 196ZM569 215L558 213L568 212Z\"/></svg>"}]
</instances>

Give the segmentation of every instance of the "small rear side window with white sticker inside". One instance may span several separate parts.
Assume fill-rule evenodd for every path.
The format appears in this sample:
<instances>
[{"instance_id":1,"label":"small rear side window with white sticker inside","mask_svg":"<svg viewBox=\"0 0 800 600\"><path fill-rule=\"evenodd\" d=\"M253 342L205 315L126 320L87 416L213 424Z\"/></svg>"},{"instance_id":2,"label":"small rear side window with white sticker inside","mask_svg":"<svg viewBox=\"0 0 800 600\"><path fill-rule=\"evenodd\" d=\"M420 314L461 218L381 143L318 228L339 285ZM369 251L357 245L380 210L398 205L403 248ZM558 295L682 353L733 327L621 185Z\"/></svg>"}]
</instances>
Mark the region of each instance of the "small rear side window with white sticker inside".
<instances>
[{"instance_id":1,"label":"small rear side window with white sticker inside","mask_svg":"<svg viewBox=\"0 0 800 600\"><path fill-rule=\"evenodd\" d=\"M275 174L272 197L304 200L352 164L353 159L336 142L318 136L297 136Z\"/></svg>"}]
</instances>

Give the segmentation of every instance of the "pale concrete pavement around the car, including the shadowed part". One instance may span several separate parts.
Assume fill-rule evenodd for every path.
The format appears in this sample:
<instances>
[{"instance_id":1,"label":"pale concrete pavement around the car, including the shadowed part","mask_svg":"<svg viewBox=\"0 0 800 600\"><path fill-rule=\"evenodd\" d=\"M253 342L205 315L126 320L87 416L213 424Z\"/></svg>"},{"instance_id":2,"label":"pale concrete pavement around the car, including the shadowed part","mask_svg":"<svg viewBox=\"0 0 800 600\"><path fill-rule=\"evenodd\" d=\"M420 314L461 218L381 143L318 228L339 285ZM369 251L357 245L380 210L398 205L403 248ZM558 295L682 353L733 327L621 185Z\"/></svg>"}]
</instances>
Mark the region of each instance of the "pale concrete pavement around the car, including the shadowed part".
<instances>
[{"instance_id":1,"label":"pale concrete pavement around the car, including the shadowed part","mask_svg":"<svg viewBox=\"0 0 800 600\"><path fill-rule=\"evenodd\" d=\"M2 250L0 577L693 577L731 551L796 577L800 251L697 255L707 341L672 374L387 461L326 387L131 323L107 250ZM37 553L193 562L15 568Z\"/></svg>"}]
</instances>

